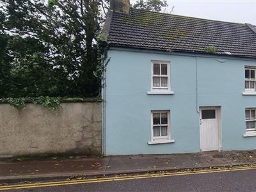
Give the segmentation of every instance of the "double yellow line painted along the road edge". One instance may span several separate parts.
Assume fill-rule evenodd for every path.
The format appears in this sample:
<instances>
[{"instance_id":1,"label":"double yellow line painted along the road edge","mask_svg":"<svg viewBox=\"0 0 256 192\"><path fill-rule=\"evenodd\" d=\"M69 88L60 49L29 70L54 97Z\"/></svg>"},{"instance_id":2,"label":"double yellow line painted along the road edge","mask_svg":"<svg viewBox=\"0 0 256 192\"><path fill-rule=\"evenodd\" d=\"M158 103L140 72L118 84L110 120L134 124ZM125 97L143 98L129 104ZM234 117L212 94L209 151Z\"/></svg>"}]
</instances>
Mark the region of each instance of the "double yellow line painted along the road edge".
<instances>
[{"instance_id":1,"label":"double yellow line painted along the road edge","mask_svg":"<svg viewBox=\"0 0 256 192\"><path fill-rule=\"evenodd\" d=\"M147 173L144 175L127 175L120 177L105 177L98 179L77 179L77 180L65 180L57 182L36 182L31 184L18 184L10 186L0 186L0 191L4 190L14 190L14 189L29 189L29 188L45 188L52 186L67 186L74 184L86 184L93 182L111 182L117 180L132 180L132 179L147 179L147 178L156 178L156 177L172 177L178 175L193 175L193 174L204 174L204 173L216 173L216 172L234 172L241 170L256 170L256 165L253 166L237 166L233 168L217 168L217 169L208 169L208 170L195 170L195 171L181 171L181 172L165 172L165 173Z\"/></svg>"}]
</instances>

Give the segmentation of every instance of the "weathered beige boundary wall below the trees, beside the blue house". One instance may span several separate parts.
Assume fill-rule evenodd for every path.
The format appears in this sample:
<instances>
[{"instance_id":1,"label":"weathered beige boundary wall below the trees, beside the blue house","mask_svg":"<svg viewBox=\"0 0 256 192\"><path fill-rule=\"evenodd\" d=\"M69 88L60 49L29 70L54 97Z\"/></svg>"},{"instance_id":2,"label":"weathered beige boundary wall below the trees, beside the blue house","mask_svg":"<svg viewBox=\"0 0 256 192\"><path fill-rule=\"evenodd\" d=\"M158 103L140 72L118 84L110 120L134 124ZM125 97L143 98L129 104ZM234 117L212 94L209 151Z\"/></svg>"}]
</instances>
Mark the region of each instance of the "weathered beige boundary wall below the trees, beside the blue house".
<instances>
[{"instance_id":1,"label":"weathered beige boundary wall below the trees, beside the blue house","mask_svg":"<svg viewBox=\"0 0 256 192\"><path fill-rule=\"evenodd\" d=\"M101 101L61 103L57 112L35 104L23 110L0 104L0 158L99 155L101 150Z\"/></svg>"}]
</instances>

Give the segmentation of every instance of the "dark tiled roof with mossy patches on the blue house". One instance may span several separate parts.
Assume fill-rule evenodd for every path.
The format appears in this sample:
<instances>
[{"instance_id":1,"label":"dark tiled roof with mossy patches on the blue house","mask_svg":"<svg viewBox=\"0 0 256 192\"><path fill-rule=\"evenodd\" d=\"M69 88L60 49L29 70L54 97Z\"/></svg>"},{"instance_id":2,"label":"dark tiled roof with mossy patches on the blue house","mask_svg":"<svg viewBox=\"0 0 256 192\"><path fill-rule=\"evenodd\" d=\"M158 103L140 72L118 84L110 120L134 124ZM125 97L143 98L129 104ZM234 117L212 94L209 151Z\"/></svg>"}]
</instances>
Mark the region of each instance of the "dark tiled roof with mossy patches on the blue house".
<instances>
[{"instance_id":1,"label":"dark tiled roof with mossy patches on the blue house","mask_svg":"<svg viewBox=\"0 0 256 192\"><path fill-rule=\"evenodd\" d=\"M111 12L106 41L118 47L256 58L256 27L131 9ZM254 30L254 31L253 31Z\"/></svg>"}]
</instances>

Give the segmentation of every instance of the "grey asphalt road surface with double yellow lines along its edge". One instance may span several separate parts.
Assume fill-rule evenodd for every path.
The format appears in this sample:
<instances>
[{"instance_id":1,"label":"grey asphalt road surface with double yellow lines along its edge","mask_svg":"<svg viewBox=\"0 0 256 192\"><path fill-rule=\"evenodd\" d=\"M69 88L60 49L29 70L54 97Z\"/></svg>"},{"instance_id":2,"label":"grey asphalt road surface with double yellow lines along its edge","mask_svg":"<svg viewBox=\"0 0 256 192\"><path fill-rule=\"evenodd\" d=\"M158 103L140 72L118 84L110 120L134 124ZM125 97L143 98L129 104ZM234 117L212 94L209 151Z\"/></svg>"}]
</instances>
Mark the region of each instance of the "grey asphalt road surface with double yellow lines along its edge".
<instances>
[{"instance_id":1,"label":"grey asphalt road surface with double yellow lines along its edge","mask_svg":"<svg viewBox=\"0 0 256 192\"><path fill-rule=\"evenodd\" d=\"M21 189L22 186L24 189ZM13 189L13 188L17 189ZM170 173L170 175L140 175L135 177L111 177L105 179L48 182L40 187L35 184L13 186L6 191L256 191L256 169ZM4 188L0 188L1 189Z\"/></svg>"}]
</instances>

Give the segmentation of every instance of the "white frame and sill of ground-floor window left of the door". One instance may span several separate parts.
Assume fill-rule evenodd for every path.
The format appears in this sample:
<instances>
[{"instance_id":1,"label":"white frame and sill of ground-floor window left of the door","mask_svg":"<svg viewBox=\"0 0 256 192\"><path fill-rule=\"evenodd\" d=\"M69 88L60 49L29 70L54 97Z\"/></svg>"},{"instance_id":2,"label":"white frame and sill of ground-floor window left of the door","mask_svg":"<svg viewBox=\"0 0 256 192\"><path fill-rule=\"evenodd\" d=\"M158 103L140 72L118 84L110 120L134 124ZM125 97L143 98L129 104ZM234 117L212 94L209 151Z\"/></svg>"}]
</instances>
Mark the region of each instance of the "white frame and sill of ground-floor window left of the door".
<instances>
[{"instance_id":1,"label":"white frame and sill of ground-floor window left of the door","mask_svg":"<svg viewBox=\"0 0 256 192\"><path fill-rule=\"evenodd\" d=\"M157 124L154 125L153 123L153 115L156 113L167 113L167 124ZM170 134L170 110L157 110L151 111L151 141L148 141L148 144L160 144L160 143L174 143L174 140L171 140ZM161 116L161 115L160 115ZM161 119L161 117L160 117ZM156 126L167 126L167 135L166 136L154 136L154 127ZM160 129L161 132L161 129Z\"/></svg>"}]
</instances>

